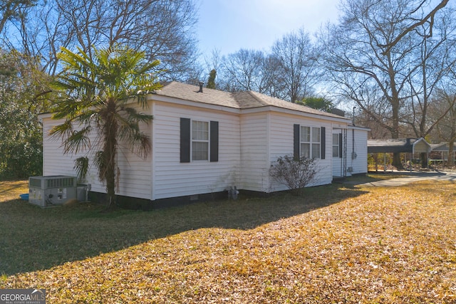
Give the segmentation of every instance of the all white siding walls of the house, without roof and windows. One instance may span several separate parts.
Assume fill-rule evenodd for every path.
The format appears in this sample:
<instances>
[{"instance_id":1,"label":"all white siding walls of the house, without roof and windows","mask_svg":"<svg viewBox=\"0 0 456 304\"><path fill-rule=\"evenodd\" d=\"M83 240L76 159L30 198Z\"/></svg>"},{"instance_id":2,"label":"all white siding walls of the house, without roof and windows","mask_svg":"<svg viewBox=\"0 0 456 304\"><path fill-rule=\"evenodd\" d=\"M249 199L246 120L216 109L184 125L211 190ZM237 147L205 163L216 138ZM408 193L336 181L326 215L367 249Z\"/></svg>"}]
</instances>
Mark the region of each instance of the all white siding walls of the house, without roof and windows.
<instances>
[{"instance_id":1,"label":"all white siding walls of the house, without roof and windows","mask_svg":"<svg viewBox=\"0 0 456 304\"><path fill-rule=\"evenodd\" d=\"M198 105L198 104L195 104ZM118 153L120 191L118 194L141 199L166 199L179 196L224 192L229 187L255 192L285 190L286 186L269 178L271 162L294 150L294 124L326 128L325 159L318 159L318 174L309 186L329 184L336 169L332 157L332 134L343 123L318 117L303 117L291 111L264 109L236 110L224 107L193 106L179 100L150 100L147 110L154 115L142 130L150 135L152 151L142 159L121 145ZM219 161L180 162L180 118L219 122ZM59 121L43 117L43 174L76 175L73 159L65 155L61 140L51 140L48 131ZM340 130L339 130L340 131ZM348 130L347 167L353 173L367 172L367 130L355 130L358 157L351 160L351 130ZM88 183L92 191L105 192L96 169L90 166Z\"/></svg>"}]
</instances>

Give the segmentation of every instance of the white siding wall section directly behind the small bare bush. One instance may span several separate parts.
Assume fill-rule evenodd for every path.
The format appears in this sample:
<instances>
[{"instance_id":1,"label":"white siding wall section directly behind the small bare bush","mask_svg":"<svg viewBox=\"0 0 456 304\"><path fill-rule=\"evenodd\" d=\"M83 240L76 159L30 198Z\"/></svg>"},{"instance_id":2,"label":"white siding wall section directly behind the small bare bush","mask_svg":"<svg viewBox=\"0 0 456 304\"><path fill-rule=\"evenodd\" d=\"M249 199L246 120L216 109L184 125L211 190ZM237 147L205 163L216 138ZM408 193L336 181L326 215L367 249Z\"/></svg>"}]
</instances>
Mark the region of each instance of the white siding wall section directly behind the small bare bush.
<instances>
[{"instance_id":1,"label":"white siding wall section directly behind the small bare bush","mask_svg":"<svg viewBox=\"0 0 456 304\"><path fill-rule=\"evenodd\" d=\"M270 115L270 157L269 165L276 161L280 156L293 156L294 150L294 125L298 124L307 127L325 127L325 159L317 159L314 182L309 186L318 186L321 184L331 184L333 177L331 174L331 122L326 120L316 120L312 118L299 117L297 115L286 115L282 113L271 113ZM274 180L270 180L271 191L286 190L287 187L279 184Z\"/></svg>"}]
</instances>

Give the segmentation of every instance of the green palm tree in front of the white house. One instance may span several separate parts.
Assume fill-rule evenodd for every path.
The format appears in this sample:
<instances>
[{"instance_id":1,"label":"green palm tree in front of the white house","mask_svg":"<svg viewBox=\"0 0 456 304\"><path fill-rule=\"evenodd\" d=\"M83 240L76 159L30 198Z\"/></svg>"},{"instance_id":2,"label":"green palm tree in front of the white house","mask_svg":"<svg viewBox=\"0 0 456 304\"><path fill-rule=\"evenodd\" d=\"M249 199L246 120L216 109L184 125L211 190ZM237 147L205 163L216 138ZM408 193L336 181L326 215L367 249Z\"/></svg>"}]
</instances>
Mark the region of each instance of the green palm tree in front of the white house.
<instances>
[{"instance_id":1,"label":"green palm tree in front of the white house","mask_svg":"<svg viewBox=\"0 0 456 304\"><path fill-rule=\"evenodd\" d=\"M152 115L140 110L147 108L145 95L160 88L151 73L160 62L145 62L145 53L120 45L93 48L93 57L81 48L78 53L61 48L58 56L63 71L53 83L59 93L53 118L64 121L53 127L51 135L62 139L64 153L86 152L93 157L108 194L107 209L112 208L120 174L119 142L126 142L141 157L150 152L150 138L140 131L140 123L148 124ZM96 136L90 137L93 132ZM86 179L88 164L88 156L76 159L79 179Z\"/></svg>"}]
</instances>

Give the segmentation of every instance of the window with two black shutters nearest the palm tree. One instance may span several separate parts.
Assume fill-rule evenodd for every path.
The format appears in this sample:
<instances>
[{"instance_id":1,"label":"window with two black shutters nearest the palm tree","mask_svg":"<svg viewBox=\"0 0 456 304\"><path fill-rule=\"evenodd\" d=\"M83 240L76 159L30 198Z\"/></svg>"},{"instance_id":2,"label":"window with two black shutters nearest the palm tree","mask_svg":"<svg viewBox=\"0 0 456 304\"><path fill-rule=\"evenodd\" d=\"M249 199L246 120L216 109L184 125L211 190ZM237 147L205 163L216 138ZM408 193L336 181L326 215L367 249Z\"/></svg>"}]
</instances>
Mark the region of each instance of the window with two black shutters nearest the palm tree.
<instances>
[{"instance_id":1,"label":"window with two black shutters nearest the palm tree","mask_svg":"<svg viewBox=\"0 0 456 304\"><path fill-rule=\"evenodd\" d=\"M180 118L180 162L219 161L219 122Z\"/></svg>"}]
</instances>

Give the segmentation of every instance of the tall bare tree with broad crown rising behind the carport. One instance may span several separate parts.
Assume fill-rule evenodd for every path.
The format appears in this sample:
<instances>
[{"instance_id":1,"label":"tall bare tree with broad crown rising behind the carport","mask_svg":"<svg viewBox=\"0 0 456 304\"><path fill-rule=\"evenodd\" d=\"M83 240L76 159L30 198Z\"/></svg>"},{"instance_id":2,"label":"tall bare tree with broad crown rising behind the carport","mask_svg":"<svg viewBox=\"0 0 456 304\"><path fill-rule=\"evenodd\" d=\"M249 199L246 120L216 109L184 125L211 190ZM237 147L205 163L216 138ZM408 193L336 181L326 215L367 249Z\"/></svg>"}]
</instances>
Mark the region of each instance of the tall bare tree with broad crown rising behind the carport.
<instances>
[{"instance_id":1,"label":"tall bare tree with broad crown rising behind the carport","mask_svg":"<svg viewBox=\"0 0 456 304\"><path fill-rule=\"evenodd\" d=\"M325 50L321 63L338 93L389 130L392 138L399 138L407 124L417 126L418 136L429 132L430 97L455 64L450 56L455 28L445 22L450 14L437 10L432 23L427 22L430 4L427 0L346 0L341 23L328 26L320 39ZM415 115L410 115L414 110ZM398 153L393 165L402 167Z\"/></svg>"}]
</instances>

